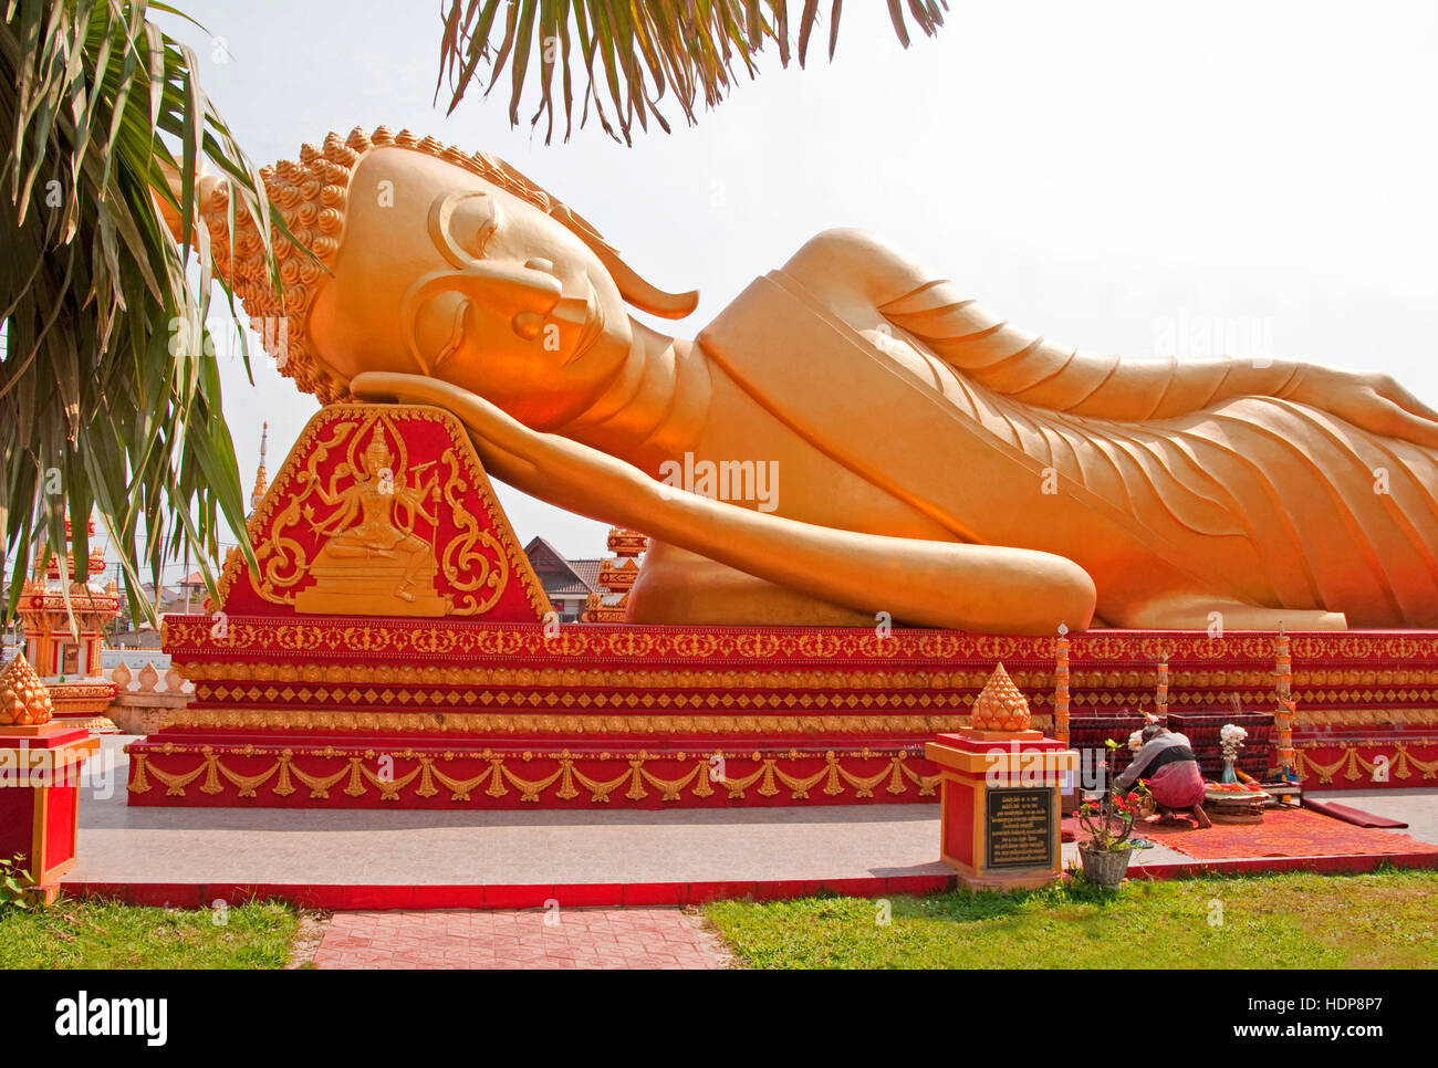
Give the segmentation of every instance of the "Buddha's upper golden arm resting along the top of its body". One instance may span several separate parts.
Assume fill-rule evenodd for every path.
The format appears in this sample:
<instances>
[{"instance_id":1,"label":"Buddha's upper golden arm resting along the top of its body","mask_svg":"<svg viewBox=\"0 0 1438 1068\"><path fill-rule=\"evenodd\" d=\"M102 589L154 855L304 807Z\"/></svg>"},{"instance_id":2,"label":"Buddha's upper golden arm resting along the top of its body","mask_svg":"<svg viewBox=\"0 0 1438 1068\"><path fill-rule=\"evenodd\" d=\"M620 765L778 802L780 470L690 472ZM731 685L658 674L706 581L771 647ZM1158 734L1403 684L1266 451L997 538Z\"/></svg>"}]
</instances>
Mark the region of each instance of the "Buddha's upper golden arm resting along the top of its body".
<instances>
[{"instance_id":1,"label":"Buddha's upper golden arm resting along the top of its body","mask_svg":"<svg viewBox=\"0 0 1438 1068\"><path fill-rule=\"evenodd\" d=\"M956 285L861 230L827 230L784 266L857 329L892 323L968 378L1015 400L1091 418L1145 421L1238 397L1332 413L1375 434L1438 447L1438 414L1385 375L1290 359L1120 359L1012 326ZM877 310L877 316L876 316Z\"/></svg>"}]
</instances>

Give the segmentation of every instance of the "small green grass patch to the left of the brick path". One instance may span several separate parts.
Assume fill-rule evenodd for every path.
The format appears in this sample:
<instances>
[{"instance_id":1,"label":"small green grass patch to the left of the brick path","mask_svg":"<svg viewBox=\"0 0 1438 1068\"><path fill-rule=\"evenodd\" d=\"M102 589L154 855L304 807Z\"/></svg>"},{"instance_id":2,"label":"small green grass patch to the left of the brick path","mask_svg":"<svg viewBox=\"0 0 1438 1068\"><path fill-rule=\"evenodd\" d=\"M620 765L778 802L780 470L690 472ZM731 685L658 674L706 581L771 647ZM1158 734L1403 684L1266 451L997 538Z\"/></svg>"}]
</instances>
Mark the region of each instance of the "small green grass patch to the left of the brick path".
<instances>
[{"instance_id":1,"label":"small green grass patch to the left of the brick path","mask_svg":"<svg viewBox=\"0 0 1438 1068\"><path fill-rule=\"evenodd\" d=\"M283 967L298 927L293 908L272 903L220 914L62 898L0 910L0 969Z\"/></svg>"}]
</instances>

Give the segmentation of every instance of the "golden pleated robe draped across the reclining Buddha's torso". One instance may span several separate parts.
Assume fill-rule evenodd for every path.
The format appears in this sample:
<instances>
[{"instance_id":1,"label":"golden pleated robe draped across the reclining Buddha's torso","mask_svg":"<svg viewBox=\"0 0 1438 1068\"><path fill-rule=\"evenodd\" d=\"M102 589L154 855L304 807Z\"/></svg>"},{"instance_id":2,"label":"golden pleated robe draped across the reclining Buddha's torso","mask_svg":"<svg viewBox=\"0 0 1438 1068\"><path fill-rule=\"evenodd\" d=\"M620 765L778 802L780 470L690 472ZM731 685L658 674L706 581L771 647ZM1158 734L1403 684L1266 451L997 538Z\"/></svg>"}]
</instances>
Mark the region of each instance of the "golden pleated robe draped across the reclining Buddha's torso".
<instances>
[{"instance_id":1,"label":"golden pleated robe draped across the reclining Buddha's torso","mask_svg":"<svg viewBox=\"0 0 1438 1068\"><path fill-rule=\"evenodd\" d=\"M782 272L699 344L812 447L956 540L1084 566L1110 622L1188 597L1438 627L1431 448L1273 397L1142 421L1076 415L1020 400L1032 384L985 385L902 328L856 329ZM824 408L810 402L817 377L844 384Z\"/></svg>"}]
</instances>

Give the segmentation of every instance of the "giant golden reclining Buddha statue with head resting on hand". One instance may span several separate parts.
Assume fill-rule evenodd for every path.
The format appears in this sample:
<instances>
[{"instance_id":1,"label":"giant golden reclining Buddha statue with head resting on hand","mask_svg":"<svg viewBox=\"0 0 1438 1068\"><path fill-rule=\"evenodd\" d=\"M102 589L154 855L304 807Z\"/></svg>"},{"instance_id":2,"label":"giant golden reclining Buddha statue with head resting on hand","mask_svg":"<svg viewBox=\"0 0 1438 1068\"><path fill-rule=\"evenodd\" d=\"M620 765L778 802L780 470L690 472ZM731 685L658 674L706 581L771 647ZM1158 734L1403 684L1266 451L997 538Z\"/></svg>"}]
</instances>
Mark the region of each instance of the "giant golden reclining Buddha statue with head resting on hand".
<instances>
[{"instance_id":1,"label":"giant golden reclining Buddha statue with head resting on hand","mask_svg":"<svg viewBox=\"0 0 1438 1068\"><path fill-rule=\"evenodd\" d=\"M203 216L282 371L647 532L636 622L1438 627L1438 415L1386 377L1077 351L856 230L672 338L627 305L697 295L493 157L357 129L265 178L313 252L280 241L283 296L213 178ZM669 484L706 463L766 464L766 507Z\"/></svg>"}]
</instances>

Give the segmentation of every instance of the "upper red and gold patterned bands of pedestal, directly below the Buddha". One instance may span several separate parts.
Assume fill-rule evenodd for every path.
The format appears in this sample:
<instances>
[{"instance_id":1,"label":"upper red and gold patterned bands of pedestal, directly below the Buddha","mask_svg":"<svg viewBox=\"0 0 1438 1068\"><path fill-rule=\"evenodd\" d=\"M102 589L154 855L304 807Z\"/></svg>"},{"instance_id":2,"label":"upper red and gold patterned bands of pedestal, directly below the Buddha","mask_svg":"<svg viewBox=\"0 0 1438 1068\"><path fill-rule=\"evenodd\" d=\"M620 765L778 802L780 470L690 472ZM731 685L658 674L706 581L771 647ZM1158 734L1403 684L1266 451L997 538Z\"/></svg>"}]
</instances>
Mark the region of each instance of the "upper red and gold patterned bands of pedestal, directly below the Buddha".
<instances>
[{"instance_id":1,"label":"upper red and gold patterned bands of pedestal, directly below the Buddha","mask_svg":"<svg viewBox=\"0 0 1438 1068\"><path fill-rule=\"evenodd\" d=\"M758 709L919 712L965 710L1002 660L1035 709L1051 707L1053 638L936 631L805 628L663 628L569 625L559 630L444 620L296 621L171 615L165 648L196 681L197 709L475 710L544 701L561 709L684 712ZM1277 704L1271 635L1224 640L1165 634L1168 706L1173 710ZM1132 660L1155 644L1146 634L1070 635L1068 703L1074 710L1152 709L1159 664ZM1228 666L1208 663L1232 643ZM1438 660L1398 660L1434 648L1409 634L1297 635L1294 729L1438 722ZM1395 658L1382 660L1373 650ZM1183 660L1198 651L1202 661ZM1264 653L1265 651L1265 653ZM1353 653L1362 653L1357 661ZM1264 653L1264 655L1258 655ZM532 693L515 691L539 691Z\"/></svg>"}]
</instances>

